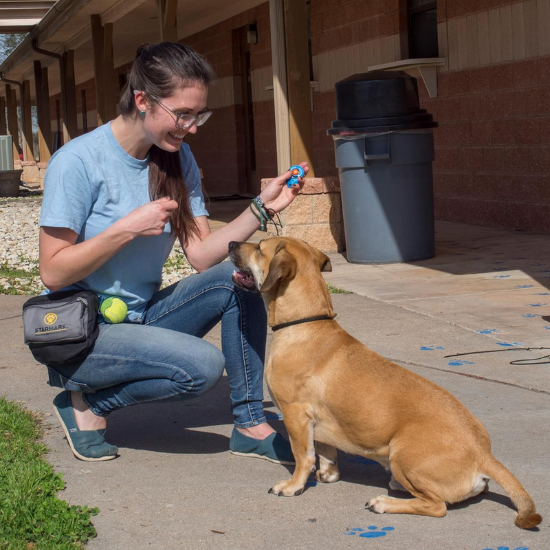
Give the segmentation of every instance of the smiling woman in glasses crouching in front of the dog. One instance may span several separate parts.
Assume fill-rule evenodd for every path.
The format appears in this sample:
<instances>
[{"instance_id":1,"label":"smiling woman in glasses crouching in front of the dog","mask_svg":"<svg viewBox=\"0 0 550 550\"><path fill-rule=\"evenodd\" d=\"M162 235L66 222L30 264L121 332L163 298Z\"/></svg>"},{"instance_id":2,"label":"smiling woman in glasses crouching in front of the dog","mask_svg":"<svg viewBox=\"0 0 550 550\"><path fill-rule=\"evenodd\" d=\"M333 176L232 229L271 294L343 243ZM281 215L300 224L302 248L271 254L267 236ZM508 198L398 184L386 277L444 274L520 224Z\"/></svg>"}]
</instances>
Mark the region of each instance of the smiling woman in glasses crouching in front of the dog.
<instances>
[{"instance_id":1,"label":"smiling woman in glasses crouching in front of the dog","mask_svg":"<svg viewBox=\"0 0 550 550\"><path fill-rule=\"evenodd\" d=\"M239 217L210 232L199 169L183 143L210 117L208 62L177 43L137 50L120 116L63 146L50 160L41 212L40 272L50 292L81 288L128 306L121 324L100 318L82 362L48 368L74 454L113 459L104 440L113 410L188 399L228 373L234 415L230 451L294 463L288 442L265 421L266 316L261 298L232 284L222 260L265 212L281 212L303 186L274 179ZM307 165L303 163L305 173ZM264 207L262 208L261 202ZM270 209L270 210L266 210ZM175 238L198 274L159 291ZM222 351L201 338L221 320Z\"/></svg>"}]
</instances>

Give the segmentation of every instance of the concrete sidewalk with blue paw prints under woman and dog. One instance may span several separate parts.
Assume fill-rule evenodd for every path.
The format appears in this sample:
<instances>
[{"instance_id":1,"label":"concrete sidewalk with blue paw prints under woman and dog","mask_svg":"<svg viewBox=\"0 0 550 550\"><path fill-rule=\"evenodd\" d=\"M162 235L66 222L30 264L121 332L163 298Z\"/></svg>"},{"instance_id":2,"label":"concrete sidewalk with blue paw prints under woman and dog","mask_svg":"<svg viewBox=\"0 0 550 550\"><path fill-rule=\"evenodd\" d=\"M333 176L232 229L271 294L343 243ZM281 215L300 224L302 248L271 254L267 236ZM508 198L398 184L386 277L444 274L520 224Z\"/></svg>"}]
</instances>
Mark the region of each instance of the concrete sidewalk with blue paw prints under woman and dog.
<instances>
[{"instance_id":1,"label":"concrete sidewalk with blue paw prints under woman and dog","mask_svg":"<svg viewBox=\"0 0 550 550\"><path fill-rule=\"evenodd\" d=\"M388 475L344 453L340 482L311 484L294 498L267 494L288 469L228 452L225 378L187 404L116 412L108 434L120 457L78 461L52 413L58 390L23 344L25 296L0 296L0 393L45 414L47 458L67 482L61 498L100 508L91 550L550 548L550 360L510 364L550 353L518 350L550 347L549 237L437 223L432 260L352 265L332 254L331 262L327 281L355 292L333 295L342 327L447 388L483 421L495 456L533 496L540 530L515 527L511 502L494 482L445 518L373 514L364 503L388 494ZM208 339L219 344L219 329ZM481 351L492 353L445 357ZM284 430L265 396L272 425Z\"/></svg>"}]
</instances>

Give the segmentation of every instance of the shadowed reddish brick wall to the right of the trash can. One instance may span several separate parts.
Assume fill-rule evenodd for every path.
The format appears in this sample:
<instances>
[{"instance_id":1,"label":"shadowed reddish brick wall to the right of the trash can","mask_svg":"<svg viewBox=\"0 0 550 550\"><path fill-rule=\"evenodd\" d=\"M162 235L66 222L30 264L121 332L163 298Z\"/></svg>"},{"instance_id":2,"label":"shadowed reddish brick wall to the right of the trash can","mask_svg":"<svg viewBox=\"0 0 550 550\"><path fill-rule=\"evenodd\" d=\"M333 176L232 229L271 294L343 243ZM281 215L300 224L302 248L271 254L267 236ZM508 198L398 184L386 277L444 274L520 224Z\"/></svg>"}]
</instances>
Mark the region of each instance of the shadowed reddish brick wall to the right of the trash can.
<instances>
[{"instance_id":1,"label":"shadowed reddish brick wall to the right of the trash can","mask_svg":"<svg viewBox=\"0 0 550 550\"><path fill-rule=\"evenodd\" d=\"M439 0L438 19L436 218L550 233L550 3Z\"/></svg>"}]
</instances>

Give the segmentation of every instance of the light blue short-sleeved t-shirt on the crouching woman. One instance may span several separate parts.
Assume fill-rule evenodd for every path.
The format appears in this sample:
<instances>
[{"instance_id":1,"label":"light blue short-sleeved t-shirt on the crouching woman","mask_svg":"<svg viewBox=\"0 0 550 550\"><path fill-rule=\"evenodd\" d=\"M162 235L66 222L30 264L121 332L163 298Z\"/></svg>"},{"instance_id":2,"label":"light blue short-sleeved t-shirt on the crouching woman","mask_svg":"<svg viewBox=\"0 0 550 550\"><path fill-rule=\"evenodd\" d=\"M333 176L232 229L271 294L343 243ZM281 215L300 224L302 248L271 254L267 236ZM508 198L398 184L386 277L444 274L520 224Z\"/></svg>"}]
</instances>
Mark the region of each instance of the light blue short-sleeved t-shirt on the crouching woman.
<instances>
[{"instance_id":1,"label":"light blue short-sleeved t-shirt on the crouching woman","mask_svg":"<svg viewBox=\"0 0 550 550\"><path fill-rule=\"evenodd\" d=\"M187 144L179 150L193 216L208 216L195 158ZM76 243L106 230L135 208L148 203L149 159L136 159L103 124L65 144L52 156L44 180L40 225L69 228ZM128 318L136 322L162 283L162 267L175 236L167 223L158 236L133 239L82 281L67 287L96 292L100 299L122 298Z\"/></svg>"}]
</instances>

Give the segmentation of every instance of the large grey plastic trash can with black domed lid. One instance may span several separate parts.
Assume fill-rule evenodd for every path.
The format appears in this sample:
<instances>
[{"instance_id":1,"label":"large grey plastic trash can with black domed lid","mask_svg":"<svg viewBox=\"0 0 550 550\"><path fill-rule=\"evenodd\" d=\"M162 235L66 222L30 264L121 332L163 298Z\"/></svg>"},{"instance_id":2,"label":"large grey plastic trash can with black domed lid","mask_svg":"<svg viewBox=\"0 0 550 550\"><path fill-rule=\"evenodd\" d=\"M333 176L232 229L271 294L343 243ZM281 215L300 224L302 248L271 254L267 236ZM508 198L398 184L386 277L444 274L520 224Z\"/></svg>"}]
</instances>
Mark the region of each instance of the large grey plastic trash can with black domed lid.
<instances>
[{"instance_id":1,"label":"large grey plastic trash can with black domed lid","mask_svg":"<svg viewBox=\"0 0 550 550\"><path fill-rule=\"evenodd\" d=\"M348 261L432 258L437 122L419 108L416 78L401 71L355 74L335 91L338 120L327 133L340 175Z\"/></svg>"}]
</instances>

